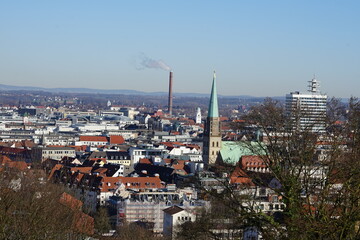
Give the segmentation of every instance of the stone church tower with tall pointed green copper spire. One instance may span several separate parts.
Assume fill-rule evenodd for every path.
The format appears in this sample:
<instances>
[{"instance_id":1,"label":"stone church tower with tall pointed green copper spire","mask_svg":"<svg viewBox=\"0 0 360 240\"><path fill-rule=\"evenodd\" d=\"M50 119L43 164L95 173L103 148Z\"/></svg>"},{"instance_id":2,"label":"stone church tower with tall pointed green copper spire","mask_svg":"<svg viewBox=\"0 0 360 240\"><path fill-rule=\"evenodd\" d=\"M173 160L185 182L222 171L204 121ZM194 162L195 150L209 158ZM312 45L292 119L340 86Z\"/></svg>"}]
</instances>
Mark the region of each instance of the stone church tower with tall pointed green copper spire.
<instances>
[{"instance_id":1,"label":"stone church tower with tall pointed green copper spire","mask_svg":"<svg viewBox=\"0 0 360 240\"><path fill-rule=\"evenodd\" d=\"M208 165L216 162L221 149L221 130L219 108L216 93L216 76L214 72L213 84L209 103L208 116L206 118L203 140L203 160Z\"/></svg>"}]
</instances>

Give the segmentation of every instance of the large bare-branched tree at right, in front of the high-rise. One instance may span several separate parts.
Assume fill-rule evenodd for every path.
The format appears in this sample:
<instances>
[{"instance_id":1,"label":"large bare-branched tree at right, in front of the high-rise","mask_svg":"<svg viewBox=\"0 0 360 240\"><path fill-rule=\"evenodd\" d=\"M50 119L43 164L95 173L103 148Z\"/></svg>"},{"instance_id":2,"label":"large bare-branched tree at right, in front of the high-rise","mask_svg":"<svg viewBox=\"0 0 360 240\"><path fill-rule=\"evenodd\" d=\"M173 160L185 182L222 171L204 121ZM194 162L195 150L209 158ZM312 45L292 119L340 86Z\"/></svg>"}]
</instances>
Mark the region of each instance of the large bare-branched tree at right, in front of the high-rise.
<instances>
[{"instance_id":1,"label":"large bare-branched tree at right, in front of the high-rise","mask_svg":"<svg viewBox=\"0 0 360 240\"><path fill-rule=\"evenodd\" d=\"M295 116L302 117L301 111ZM246 122L238 126L239 130L249 134L251 126L253 135L255 130L262 133L262 140L254 137L248 148L261 156L278 185L269 186L262 174L245 170L252 179L250 185L242 184L239 189L239 186L224 184L222 191L210 192L215 204L212 215L210 219L207 215L197 220L200 226L210 229L199 226L199 231L216 233L214 223L227 219L234 228L256 227L265 239L358 239L359 100L351 99L345 111L340 101L332 99L327 115L319 118L326 119L322 123L323 132L316 132L309 125L305 128L294 125L294 115L289 115L280 102L271 99L253 107L244 119ZM251 194L261 186L270 187L279 196L284 204L282 211L274 214L257 209L255 195ZM223 209L216 210L220 206ZM211 233L209 239L220 238Z\"/></svg>"}]
</instances>

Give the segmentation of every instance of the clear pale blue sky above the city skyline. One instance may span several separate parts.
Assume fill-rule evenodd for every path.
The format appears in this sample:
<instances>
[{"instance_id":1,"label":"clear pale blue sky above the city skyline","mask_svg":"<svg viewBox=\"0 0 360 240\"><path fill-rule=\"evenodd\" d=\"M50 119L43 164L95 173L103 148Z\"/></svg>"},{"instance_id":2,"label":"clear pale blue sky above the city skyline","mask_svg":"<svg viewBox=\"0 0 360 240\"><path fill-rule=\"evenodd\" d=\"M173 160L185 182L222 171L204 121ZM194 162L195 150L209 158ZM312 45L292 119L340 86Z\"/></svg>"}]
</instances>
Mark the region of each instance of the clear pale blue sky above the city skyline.
<instances>
[{"instance_id":1,"label":"clear pale blue sky above the city skyline","mask_svg":"<svg viewBox=\"0 0 360 240\"><path fill-rule=\"evenodd\" d=\"M0 83L360 97L360 1L0 0Z\"/></svg>"}]
</instances>

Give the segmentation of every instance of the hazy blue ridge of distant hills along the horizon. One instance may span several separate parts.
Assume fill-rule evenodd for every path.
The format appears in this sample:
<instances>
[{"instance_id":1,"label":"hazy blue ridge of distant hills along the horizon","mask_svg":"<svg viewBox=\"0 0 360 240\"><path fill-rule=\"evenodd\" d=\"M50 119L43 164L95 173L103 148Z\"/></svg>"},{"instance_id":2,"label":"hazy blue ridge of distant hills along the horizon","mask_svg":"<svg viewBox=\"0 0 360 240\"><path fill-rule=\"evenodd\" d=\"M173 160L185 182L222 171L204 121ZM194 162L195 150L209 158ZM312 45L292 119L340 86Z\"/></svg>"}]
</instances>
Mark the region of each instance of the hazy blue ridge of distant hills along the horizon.
<instances>
[{"instance_id":1,"label":"hazy blue ridge of distant hills along the horizon","mask_svg":"<svg viewBox=\"0 0 360 240\"><path fill-rule=\"evenodd\" d=\"M147 96L167 96L168 92L142 92L128 89L92 89L92 88L43 88L30 86L12 86L0 84L2 91L43 91L51 93L94 93L94 94L123 94L123 95L147 95ZM205 93L174 93L175 97L209 97L210 94ZM242 98L242 99L264 99L264 97L254 97L249 95L226 96L219 95L222 98ZM283 100L284 97L272 97L274 99Z\"/></svg>"}]
</instances>

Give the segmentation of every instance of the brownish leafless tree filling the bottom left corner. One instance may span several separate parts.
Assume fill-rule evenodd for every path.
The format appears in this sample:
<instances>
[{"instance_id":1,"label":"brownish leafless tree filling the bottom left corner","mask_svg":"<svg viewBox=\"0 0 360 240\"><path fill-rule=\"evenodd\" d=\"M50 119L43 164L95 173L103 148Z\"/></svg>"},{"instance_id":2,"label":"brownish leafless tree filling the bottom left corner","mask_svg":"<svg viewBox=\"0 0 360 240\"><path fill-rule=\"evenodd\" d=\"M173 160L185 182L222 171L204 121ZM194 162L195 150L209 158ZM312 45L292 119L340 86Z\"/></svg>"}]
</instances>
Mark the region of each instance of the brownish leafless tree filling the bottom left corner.
<instances>
[{"instance_id":1,"label":"brownish leafless tree filling the bottom left corner","mask_svg":"<svg viewBox=\"0 0 360 240\"><path fill-rule=\"evenodd\" d=\"M61 186L41 171L0 172L0 239L76 239L75 214L61 203ZM78 231L80 230L80 232Z\"/></svg>"}]
</instances>

